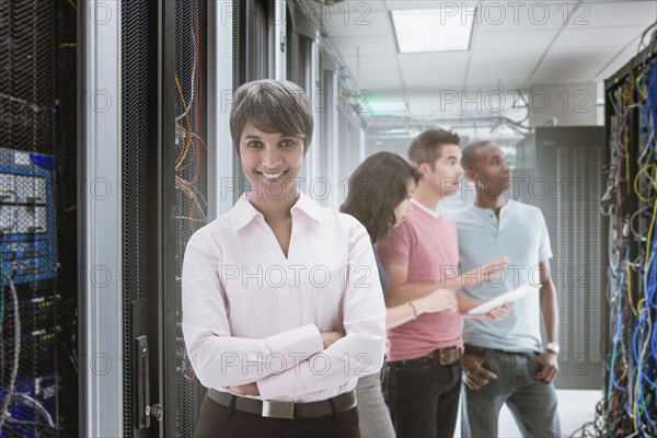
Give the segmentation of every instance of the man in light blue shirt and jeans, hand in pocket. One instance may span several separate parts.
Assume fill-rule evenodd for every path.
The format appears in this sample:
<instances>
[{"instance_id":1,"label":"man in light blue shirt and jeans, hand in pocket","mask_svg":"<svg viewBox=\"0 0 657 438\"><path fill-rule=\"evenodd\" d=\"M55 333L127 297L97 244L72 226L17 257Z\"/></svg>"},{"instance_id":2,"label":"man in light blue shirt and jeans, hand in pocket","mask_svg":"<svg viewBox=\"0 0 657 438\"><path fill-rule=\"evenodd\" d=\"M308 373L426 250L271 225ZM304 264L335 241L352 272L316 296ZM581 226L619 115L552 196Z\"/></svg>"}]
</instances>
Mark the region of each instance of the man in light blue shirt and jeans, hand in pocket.
<instances>
[{"instance_id":1,"label":"man in light blue shirt and jeans, hand in pocket","mask_svg":"<svg viewBox=\"0 0 657 438\"><path fill-rule=\"evenodd\" d=\"M489 141L463 150L465 176L475 184L476 200L452 219L459 233L459 262L464 269L500 256L509 268L499 279L468 287L468 298L487 300L521 285L537 292L519 299L506 320L464 320L462 435L497 436L497 420L507 404L523 436L560 437L556 393L558 311L550 276L550 237L541 211L507 199L509 168ZM548 328L543 348L540 321Z\"/></svg>"}]
</instances>

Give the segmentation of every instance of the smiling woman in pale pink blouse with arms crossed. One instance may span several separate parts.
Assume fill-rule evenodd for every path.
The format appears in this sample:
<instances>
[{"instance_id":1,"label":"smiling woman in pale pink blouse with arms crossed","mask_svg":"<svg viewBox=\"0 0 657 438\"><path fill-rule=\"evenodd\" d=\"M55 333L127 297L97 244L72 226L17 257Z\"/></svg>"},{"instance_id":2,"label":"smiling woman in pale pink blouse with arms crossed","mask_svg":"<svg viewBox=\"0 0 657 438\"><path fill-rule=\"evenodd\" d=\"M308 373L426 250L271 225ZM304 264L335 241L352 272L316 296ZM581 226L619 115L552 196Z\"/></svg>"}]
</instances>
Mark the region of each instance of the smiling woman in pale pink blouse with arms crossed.
<instances>
[{"instance_id":1,"label":"smiling woman in pale pink blouse with arms crossed","mask_svg":"<svg viewBox=\"0 0 657 438\"><path fill-rule=\"evenodd\" d=\"M381 369L385 308L366 229L297 187L312 120L291 82L233 96L252 189L189 239L183 264L185 344L208 388L198 437L360 436L354 388Z\"/></svg>"}]
</instances>

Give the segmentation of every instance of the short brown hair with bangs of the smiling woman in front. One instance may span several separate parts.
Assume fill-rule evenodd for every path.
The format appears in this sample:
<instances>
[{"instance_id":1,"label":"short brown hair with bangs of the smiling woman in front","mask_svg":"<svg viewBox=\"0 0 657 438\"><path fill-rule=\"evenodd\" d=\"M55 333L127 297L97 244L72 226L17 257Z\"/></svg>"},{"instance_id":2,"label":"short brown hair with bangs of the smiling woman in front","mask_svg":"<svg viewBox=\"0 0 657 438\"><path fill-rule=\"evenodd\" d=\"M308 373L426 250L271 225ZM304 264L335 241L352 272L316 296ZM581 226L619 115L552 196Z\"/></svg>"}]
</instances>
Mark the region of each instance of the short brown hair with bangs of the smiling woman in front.
<instances>
[{"instance_id":1,"label":"short brown hair with bangs of the smiling woman in front","mask_svg":"<svg viewBox=\"0 0 657 438\"><path fill-rule=\"evenodd\" d=\"M263 79L246 82L233 95L230 135L240 154L240 138L247 124L264 132L280 132L303 140L303 153L312 141L312 107L306 91L290 81Z\"/></svg>"}]
</instances>

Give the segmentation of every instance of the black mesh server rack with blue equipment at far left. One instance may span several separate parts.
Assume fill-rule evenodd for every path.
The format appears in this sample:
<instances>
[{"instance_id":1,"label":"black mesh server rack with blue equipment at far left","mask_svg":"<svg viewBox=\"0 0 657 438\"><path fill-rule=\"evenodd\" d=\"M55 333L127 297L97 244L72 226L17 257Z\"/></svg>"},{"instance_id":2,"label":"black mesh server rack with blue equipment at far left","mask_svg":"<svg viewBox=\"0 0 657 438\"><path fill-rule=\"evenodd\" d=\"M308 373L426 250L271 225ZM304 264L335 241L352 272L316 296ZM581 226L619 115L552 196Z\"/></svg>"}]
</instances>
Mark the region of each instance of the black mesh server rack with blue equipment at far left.
<instances>
[{"instance_id":1,"label":"black mesh server rack with blue equipment at far left","mask_svg":"<svg viewBox=\"0 0 657 438\"><path fill-rule=\"evenodd\" d=\"M0 436L78 435L76 10L0 3Z\"/></svg>"}]
</instances>

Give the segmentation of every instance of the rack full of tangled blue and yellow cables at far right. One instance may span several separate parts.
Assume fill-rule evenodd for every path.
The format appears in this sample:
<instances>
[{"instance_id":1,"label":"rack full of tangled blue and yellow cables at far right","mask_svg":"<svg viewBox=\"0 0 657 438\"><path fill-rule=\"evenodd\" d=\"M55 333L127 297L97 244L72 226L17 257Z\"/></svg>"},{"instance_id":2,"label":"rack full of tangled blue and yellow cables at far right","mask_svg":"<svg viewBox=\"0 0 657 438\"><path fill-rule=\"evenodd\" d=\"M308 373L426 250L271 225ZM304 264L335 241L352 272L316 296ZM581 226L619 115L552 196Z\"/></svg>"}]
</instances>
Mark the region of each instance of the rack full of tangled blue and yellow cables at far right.
<instances>
[{"instance_id":1,"label":"rack full of tangled blue and yellow cables at far right","mask_svg":"<svg viewBox=\"0 0 657 438\"><path fill-rule=\"evenodd\" d=\"M604 92L607 191L601 208L609 217L610 325L597 427L615 436L654 436L657 32L646 49L604 81Z\"/></svg>"}]
</instances>

